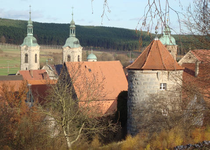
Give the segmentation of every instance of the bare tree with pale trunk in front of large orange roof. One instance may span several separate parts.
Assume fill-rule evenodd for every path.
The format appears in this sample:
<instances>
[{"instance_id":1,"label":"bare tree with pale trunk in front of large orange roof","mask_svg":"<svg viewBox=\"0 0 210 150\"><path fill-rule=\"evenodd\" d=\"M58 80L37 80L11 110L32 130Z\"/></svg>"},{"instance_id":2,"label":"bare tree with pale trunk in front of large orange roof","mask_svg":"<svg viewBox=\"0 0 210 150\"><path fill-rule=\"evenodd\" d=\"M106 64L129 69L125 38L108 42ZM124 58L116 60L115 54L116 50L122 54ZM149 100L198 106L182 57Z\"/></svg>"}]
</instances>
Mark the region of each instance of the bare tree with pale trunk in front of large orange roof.
<instances>
[{"instance_id":1,"label":"bare tree with pale trunk in front of large orange roof","mask_svg":"<svg viewBox=\"0 0 210 150\"><path fill-rule=\"evenodd\" d=\"M57 84L50 86L42 107L48 116L51 137L64 137L69 149L81 136L103 135L107 129L115 130L111 121L99 115L102 81L98 81L97 75L83 75L80 66L72 67L70 74L63 68Z\"/></svg>"}]
</instances>

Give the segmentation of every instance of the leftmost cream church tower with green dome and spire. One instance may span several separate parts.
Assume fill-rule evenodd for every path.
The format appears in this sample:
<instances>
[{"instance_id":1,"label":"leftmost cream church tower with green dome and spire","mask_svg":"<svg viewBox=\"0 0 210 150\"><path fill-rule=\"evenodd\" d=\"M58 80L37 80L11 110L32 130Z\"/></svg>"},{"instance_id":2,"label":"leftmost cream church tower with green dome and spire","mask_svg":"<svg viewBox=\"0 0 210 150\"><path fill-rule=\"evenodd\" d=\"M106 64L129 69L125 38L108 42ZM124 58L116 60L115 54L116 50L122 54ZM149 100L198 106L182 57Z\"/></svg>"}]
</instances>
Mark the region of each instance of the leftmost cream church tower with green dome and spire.
<instances>
[{"instance_id":1,"label":"leftmost cream church tower with green dome and spire","mask_svg":"<svg viewBox=\"0 0 210 150\"><path fill-rule=\"evenodd\" d=\"M37 40L33 36L33 23L31 21L31 10L29 12L27 36L24 38L23 44L20 47L21 47L20 69L21 70L40 69L40 63L39 63L40 46L37 44Z\"/></svg>"}]
</instances>

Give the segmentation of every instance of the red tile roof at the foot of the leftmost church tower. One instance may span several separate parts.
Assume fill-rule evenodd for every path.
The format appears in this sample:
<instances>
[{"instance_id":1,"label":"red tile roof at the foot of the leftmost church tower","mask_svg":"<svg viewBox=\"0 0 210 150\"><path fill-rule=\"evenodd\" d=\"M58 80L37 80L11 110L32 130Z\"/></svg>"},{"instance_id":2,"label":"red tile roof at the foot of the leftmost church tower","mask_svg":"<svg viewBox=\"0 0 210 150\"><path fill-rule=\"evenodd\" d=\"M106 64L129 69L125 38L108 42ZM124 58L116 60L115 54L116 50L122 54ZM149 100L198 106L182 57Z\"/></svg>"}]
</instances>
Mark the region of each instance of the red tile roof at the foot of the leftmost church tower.
<instances>
[{"instance_id":1,"label":"red tile roof at the foot of the leftmost church tower","mask_svg":"<svg viewBox=\"0 0 210 150\"><path fill-rule=\"evenodd\" d=\"M49 80L46 70L20 70L19 73L24 80Z\"/></svg>"}]
</instances>

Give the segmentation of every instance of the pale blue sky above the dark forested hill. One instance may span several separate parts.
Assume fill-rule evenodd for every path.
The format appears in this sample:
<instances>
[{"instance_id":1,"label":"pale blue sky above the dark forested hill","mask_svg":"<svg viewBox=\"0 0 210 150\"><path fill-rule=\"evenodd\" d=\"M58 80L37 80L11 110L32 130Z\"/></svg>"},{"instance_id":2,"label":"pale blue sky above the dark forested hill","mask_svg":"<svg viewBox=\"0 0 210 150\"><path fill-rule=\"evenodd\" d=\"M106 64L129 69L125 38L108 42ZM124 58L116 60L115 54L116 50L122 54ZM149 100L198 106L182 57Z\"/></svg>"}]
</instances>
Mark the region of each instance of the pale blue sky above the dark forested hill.
<instances>
[{"instance_id":1,"label":"pale blue sky above the dark forested hill","mask_svg":"<svg viewBox=\"0 0 210 150\"><path fill-rule=\"evenodd\" d=\"M110 12L102 18L104 0L2 0L0 18L28 20L31 5L32 21L42 23L70 23L72 10L76 25L107 26L140 29L139 19L144 15L148 0L107 0ZM164 0L162 0L164 1ZM180 0L169 0L175 10L180 10ZM182 0L188 6L191 0ZM73 7L73 9L72 9ZM179 30L177 17L170 14L170 25Z\"/></svg>"}]
</instances>

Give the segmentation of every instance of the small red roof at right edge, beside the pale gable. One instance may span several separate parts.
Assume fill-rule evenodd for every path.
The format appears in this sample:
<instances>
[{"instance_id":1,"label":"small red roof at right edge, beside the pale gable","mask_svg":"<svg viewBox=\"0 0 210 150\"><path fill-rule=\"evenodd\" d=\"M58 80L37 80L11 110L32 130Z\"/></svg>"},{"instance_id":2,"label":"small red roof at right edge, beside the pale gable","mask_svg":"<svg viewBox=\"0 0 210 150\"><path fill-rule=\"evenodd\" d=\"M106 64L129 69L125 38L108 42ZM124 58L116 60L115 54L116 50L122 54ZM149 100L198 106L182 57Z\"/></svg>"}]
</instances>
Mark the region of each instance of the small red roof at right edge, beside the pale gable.
<instances>
[{"instance_id":1,"label":"small red roof at right edge, beside the pale gable","mask_svg":"<svg viewBox=\"0 0 210 150\"><path fill-rule=\"evenodd\" d=\"M210 62L210 50L193 50L192 54L201 62Z\"/></svg>"}]
</instances>

